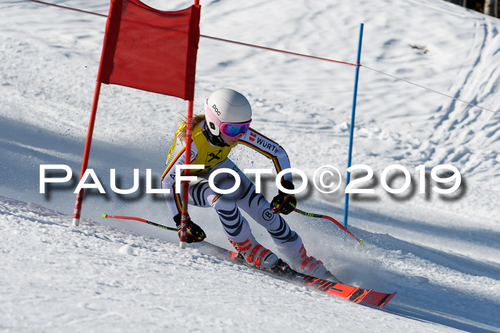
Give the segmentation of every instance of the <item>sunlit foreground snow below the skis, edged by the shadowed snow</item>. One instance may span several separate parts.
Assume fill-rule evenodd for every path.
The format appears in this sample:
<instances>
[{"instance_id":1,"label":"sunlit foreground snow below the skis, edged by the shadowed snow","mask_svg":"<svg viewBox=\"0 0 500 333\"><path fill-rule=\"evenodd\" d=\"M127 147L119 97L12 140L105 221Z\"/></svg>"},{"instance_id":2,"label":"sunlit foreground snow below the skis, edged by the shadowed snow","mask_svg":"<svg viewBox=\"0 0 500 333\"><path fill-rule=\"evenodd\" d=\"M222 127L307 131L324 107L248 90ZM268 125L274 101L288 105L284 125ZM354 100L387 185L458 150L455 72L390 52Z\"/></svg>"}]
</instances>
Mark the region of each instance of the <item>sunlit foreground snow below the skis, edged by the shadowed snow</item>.
<instances>
[{"instance_id":1,"label":"sunlit foreground snow below the skis, edged by the shadowed snow","mask_svg":"<svg viewBox=\"0 0 500 333\"><path fill-rule=\"evenodd\" d=\"M0 200L7 331L453 331L276 280L203 248L91 220L74 228L67 215Z\"/></svg>"}]
</instances>

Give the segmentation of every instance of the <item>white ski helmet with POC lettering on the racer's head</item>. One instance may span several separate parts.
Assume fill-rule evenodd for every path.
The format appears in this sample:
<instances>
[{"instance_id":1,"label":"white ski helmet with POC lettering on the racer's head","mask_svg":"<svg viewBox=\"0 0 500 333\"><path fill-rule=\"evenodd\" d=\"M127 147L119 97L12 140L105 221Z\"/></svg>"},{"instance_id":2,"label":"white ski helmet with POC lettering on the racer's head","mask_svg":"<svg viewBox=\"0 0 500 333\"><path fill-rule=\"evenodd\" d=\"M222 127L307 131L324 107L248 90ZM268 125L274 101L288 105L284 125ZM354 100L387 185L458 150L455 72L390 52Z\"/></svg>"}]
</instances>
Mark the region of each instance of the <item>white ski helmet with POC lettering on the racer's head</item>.
<instances>
[{"instance_id":1,"label":"white ski helmet with POC lettering on the racer's head","mask_svg":"<svg viewBox=\"0 0 500 333\"><path fill-rule=\"evenodd\" d=\"M251 121L251 106L238 91L222 88L211 93L206 100L205 119L210 132L219 135L221 123Z\"/></svg>"}]
</instances>

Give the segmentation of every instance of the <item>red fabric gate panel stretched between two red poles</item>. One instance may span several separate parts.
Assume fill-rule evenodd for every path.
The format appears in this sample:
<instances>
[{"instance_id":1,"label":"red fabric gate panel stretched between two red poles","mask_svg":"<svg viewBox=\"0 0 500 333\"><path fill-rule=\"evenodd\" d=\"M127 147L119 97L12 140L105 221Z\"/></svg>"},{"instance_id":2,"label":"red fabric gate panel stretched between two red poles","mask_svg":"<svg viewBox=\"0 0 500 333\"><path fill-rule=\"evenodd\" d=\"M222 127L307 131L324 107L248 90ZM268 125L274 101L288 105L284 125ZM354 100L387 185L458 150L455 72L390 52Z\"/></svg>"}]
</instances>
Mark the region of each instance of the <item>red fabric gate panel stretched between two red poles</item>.
<instances>
[{"instance_id":1,"label":"red fabric gate panel stretched between two red poles","mask_svg":"<svg viewBox=\"0 0 500 333\"><path fill-rule=\"evenodd\" d=\"M98 80L194 99L200 6L159 11L111 0Z\"/></svg>"}]
</instances>

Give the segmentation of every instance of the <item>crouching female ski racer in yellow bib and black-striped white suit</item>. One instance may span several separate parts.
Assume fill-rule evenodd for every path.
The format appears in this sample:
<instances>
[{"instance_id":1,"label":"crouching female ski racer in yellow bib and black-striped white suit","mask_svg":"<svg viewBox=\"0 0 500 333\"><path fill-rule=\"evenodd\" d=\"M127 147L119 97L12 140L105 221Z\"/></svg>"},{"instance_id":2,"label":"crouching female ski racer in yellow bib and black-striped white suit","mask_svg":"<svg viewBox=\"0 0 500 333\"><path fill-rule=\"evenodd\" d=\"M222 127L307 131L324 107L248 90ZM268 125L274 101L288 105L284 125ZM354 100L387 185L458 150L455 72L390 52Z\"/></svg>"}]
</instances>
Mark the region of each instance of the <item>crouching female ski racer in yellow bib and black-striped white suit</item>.
<instances>
[{"instance_id":1,"label":"crouching female ski racer in yellow bib and black-striped white suit","mask_svg":"<svg viewBox=\"0 0 500 333\"><path fill-rule=\"evenodd\" d=\"M279 191L269 204L263 195L256 193L254 183L239 170L228 158L229 152L237 144L246 145L267 158L273 160L276 171L290 168L288 155L280 145L250 128L251 106L249 101L231 89L219 89L206 101L205 114L195 116L191 143L191 164L204 165L202 170L191 170L198 180L189 185L189 204L204 208L214 208L219 215L222 227L234 248L245 257L251 265L271 269L279 262L279 258L270 250L260 245L252 235L249 222L241 215L240 208L248 213L256 222L266 228L279 252L286 257L288 264L295 270L307 275L326 280L336 278L326 270L323 263L306 254L301 237L290 229L281 214L289 214L296 205L293 194ZM161 176L162 188L170 189L164 194L169 210L180 233L181 195L176 193L176 165L184 164L186 122L176 130L174 143L171 145L166 160L166 169ZM238 173L241 179L239 188L230 194L219 194L209 186L209 176L215 170L229 168ZM219 189L234 186L234 176L220 173L214 178ZM293 190L290 173L281 179L283 188ZM206 237L199 225L190 218L187 228L187 242L201 242Z\"/></svg>"}]
</instances>

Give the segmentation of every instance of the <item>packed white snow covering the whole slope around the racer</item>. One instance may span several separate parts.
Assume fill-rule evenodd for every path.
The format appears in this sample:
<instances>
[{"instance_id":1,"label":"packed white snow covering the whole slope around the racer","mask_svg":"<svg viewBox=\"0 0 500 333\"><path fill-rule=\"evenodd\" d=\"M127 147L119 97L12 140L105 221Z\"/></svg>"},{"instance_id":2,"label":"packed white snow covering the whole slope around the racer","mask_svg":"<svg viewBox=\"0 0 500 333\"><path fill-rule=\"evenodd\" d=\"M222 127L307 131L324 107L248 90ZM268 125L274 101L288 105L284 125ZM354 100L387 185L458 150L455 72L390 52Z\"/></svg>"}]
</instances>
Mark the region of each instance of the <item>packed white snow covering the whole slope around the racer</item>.
<instances>
[{"instance_id":1,"label":"packed white snow covering the whole slope around the racer","mask_svg":"<svg viewBox=\"0 0 500 333\"><path fill-rule=\"evenodd\" d=\"M191 4L167 2L146 1L163 10ZM104 0L54 3L100 14L109 8ZM500 21L441 0L202 0L201 6L201 34L347 62L356 60L364 23L352 159L374 170L361 184L374 194L351 195L349 228L366 245L343 240L324 220L294 214L286 220L309 254L344 282L398 292L390 312L235 267L203 247L179 250L175 233L101 220L108 212L173 225L161 195L145 193L145 176L151 169L159 186L186 112L177 98L101 88L89 168L106 194L86 191L84 220L72 227L106 19L2 1L1 329L500 332ZM201 39L195 112L216 88L241 91L253 106L252 126L286 149L292 167L311 182L317 168L333 165L345 184L354 70ZM240 168L272 168L244 147L231 159ZM41 194L39 170L47 164L69 165L74 174ZM398 195L381 185L392 164L411 174L410 188ZM453 194L433 190L431 170L440 164L460 172ZM138 168L140 190L112 193L111 168L120 188L131 188ZM392 180L392 188L403 184ZM269 178L264 186L268 199L273 183ZM342 220L344 187L324 195L310 183L298 195L299 208ZM190 214L209 242L229 247L214 212ZM251 227L275 250L265 230Z\"/></svg>"}]
</instances>

